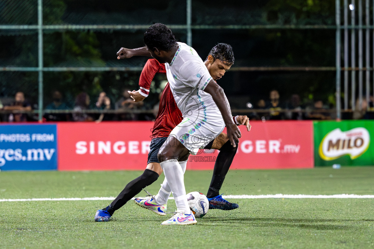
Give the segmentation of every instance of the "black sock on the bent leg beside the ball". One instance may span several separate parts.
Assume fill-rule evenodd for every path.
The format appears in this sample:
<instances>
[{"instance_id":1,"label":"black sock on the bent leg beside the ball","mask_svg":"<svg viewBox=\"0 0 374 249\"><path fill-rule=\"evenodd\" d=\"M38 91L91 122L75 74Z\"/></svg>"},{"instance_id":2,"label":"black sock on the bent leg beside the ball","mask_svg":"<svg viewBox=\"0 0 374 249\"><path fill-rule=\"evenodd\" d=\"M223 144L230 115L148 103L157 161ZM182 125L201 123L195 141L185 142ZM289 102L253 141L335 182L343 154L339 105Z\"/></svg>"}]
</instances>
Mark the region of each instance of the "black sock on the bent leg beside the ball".
<instances>
[{"instance_id":1,"label":"black sock on the bent leg beside the ball","mask_svg":"<svg viewBox=\"0 0 374 249\"><path fill-rule=\"evenodd\" d=\"M225 180L226 174L229 171L231 163L233 162L236 154L238 146L236 141L235 144L236 147L233 147L229 140L221 147L220 153L218 153L217 160L214 164L212 181L206 197L212 198L220 194L223 180Z\"/></svg>"}]
</instances>

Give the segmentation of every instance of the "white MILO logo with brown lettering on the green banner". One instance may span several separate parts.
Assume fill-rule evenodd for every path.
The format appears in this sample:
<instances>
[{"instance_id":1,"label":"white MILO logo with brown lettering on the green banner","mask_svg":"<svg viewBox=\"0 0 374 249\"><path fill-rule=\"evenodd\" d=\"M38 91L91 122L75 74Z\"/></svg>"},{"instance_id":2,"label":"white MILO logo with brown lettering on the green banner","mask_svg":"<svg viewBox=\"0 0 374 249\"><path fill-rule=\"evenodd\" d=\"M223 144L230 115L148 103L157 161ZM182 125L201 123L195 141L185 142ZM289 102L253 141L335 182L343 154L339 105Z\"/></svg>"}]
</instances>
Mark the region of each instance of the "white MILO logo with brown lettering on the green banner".
<instances>
[{"instance_id":1,"label":"white MILO logo with brown lettering on the green banner","mask_svg":"<svg viewBox=\"0 0 374 249\"><path fill-rule=\"evenodd\" d=\"M325 161L331 161L344 155L356 159L365 153L369 144L370 135L364 127L344 132L340 128L336 128L322 139L318 153Z\"/></svg>"}]
</instances>

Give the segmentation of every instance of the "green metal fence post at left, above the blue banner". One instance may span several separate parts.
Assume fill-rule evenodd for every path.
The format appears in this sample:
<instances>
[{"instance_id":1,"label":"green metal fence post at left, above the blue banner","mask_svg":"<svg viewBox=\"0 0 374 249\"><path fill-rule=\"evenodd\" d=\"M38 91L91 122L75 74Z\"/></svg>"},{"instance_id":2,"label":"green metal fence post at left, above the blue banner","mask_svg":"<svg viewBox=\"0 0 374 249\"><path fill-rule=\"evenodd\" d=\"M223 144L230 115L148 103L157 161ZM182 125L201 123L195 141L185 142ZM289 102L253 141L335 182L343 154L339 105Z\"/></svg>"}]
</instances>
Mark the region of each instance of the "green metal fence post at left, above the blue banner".
<instances>
[{"instance_id":1,"label":"green metal fence post at left, above the blue banner","mask_svg":"<svg viewBox=\"0 0 374 249\"><path fill-rule=\"evenodd\" d=\"M38 0L38 82L39 122L43 121L43 0Z\"/></svg>"}]
</instances>

